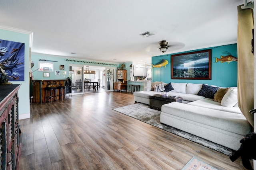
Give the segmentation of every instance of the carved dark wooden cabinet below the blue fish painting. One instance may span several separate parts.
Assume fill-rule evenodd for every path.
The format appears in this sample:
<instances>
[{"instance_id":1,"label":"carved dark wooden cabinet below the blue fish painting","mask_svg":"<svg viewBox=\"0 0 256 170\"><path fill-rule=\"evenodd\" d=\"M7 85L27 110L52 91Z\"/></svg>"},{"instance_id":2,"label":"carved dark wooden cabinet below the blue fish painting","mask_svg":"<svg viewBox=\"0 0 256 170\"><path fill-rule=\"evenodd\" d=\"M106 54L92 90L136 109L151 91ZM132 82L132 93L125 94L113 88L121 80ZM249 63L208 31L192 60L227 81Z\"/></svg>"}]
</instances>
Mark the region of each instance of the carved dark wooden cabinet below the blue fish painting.
<instances>
[{"instance_id":1,"label":"carved dark wooden cabinet below the blue fish painting","mask_svg":"<svg viewBox=\"0 0 256 170\"><path fill-rule=\"evenodd\" d=\"M18 124L18 90L20 84L0 86L0 169L16 170L19 166L21 140Z\"/></svg>"}]
</instances>

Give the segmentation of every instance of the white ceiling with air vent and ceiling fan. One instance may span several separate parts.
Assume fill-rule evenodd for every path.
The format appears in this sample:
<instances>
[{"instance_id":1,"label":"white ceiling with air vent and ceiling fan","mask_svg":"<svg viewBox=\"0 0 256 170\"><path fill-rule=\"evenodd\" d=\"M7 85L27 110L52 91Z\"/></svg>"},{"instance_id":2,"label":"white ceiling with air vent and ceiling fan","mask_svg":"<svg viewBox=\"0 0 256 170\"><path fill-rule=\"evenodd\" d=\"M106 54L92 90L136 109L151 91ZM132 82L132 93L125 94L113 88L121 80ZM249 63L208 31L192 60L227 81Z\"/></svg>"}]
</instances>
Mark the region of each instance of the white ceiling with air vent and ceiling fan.
<instances>
[{"instance_id":1,"label":"white ceiling with air vent and ceiling fan","mask_svg":"<svg viewBox=\"0 0 256 170\"><path fill-rule=\"evenodd\" d=\"M0 25L32 31L32 54L150 63L152 56L163 55L158 49L162 40L170 46L165 54L236 43L241 4L243 0L1 0ZM146 31L155 35L140 35Z\"/></svg>"}]
</instances>

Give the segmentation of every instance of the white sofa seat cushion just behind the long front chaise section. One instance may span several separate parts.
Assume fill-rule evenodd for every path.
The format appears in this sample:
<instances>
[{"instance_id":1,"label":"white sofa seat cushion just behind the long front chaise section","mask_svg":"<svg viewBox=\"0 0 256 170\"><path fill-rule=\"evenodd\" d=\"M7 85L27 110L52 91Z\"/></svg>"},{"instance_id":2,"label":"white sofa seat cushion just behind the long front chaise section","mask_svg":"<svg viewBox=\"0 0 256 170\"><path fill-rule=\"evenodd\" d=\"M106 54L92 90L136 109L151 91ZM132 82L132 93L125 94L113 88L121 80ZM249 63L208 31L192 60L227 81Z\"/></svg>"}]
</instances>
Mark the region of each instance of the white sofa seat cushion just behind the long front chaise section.
<instances>
[{"instance_id":1,"label":"white sofa seat cushion just behind the long front chaise section","mask_svg":"<svg viewBox=\"0 0 256 170\"><path fill-rule=\"evenodd\" d=\"M208 98L190 102L190 103L188 103L188 105L200 106L200 107L205 107L205 108L209 108L209 109L215 109L215 110L220 110L220 111L227 111L227 112L231 112L231 113L242 114L239 107L224 107L224 106L221 106L219 102L215 102L212 99L208 99Z\"/></svg>"}]
</instances>

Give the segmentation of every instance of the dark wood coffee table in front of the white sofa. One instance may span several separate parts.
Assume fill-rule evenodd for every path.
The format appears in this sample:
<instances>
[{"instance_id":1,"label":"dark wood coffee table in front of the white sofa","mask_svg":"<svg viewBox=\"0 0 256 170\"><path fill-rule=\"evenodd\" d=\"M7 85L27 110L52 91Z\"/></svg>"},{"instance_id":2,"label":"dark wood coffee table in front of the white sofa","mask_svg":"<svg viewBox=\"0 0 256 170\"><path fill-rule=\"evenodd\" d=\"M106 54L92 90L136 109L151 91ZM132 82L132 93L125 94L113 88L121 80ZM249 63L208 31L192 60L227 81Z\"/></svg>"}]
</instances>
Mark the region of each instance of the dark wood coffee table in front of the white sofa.
<instances>
[{"instance_id":1,"label":"dark wood coffee table in front of the white sofa","mask_svg":"<svg viewBox=\"0 0 256 170\"><path fill-rule=\"evenodd\" d=\"M153 96L149 96L150 104L149 107L151 109L160 110L163 104L168 104L171 102L182 102L181 97L173 98L173 97L166 97L162 96L161 94L154 94Z\"/></svg>"}]
</instances>

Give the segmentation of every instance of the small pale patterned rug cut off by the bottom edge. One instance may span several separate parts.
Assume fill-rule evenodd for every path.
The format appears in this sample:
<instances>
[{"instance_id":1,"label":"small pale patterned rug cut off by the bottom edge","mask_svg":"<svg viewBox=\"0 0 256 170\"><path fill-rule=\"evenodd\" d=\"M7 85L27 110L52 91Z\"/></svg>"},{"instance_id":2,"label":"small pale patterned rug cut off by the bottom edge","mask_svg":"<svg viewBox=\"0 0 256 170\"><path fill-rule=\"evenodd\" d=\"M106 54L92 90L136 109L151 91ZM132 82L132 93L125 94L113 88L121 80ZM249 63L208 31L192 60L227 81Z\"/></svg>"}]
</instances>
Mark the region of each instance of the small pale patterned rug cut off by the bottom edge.
<instances>
[{"instance_id":1,"label":"small pale patterned rug cut off by the bottom edge","mask_svg":"<svg viewBox=\"0 0 256 170\"><path fill-rule=\"evenodd\" d=\"M182 170L218 170L202 160L193 157L183 168Z\"/></svg>"}]
</instances>

